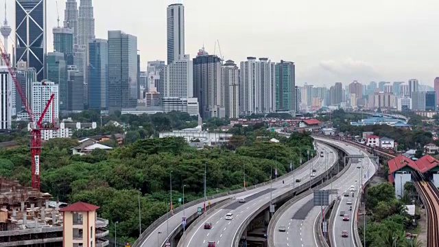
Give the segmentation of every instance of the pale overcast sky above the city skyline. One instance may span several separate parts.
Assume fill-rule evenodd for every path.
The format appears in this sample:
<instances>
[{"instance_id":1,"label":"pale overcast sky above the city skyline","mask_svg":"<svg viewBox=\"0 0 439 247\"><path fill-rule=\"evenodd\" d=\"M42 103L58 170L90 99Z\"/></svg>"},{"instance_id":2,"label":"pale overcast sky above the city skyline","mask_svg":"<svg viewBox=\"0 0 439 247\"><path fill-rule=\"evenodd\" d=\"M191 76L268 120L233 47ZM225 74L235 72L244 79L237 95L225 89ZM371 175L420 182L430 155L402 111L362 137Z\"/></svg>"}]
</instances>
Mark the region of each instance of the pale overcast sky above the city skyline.
<instances>
[{"instance_id":1,"label":"pale overcast sky above the city skyline","mask_svg":"<svg viewBox=\"0 0 439 247\"><path fill-rule=\"evenodd\" d=\"M14 27L14 0L6 1ZM93 0L96 37L106 38L107 30L137 36L142 70L147 60L166 60L166 6L178 1ZM213 54L219 40L222 56L237 64L247 56L295 62L298 85L410 78L432 85L439 76L438 0L180 2L191 57L203 44ZM61 24L64 8L65 0L58 0ZM49 51L56 19L56 0L47 0Z\"/></svg>"}]
</instances>

